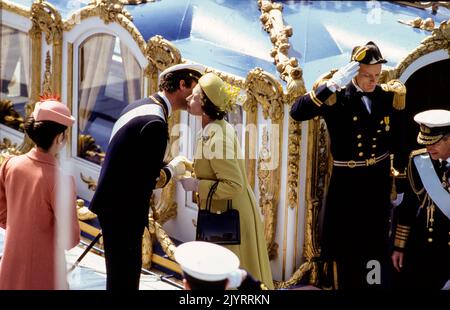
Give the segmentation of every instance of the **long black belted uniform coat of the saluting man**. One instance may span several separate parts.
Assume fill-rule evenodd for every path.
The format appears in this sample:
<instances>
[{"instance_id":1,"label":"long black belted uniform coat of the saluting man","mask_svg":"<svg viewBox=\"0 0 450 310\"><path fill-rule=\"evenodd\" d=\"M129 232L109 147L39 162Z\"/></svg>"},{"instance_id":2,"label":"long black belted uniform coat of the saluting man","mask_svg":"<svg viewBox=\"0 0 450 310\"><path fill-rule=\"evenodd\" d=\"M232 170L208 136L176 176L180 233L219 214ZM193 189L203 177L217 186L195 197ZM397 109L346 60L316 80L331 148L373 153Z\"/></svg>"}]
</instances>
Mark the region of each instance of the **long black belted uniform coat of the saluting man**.
<instances>
[{"instance_id":1,"label":"long black belted uniform coat of the saluting man","mask_svg":"<svg viewBox=\"0 0 450 310\"><path fill-rule=\"evenodd\" d=\"M394 93L379 85L367 96L371 114L353 82L333 95L326 83L293 104L290 115L297 121L321 116L325 120L334 160L364 161L367 165L333 166L326 198L322 230L322 259L355 261L388 257L389 210L392 181L389 156L373 164L386 153L395 154L394 165L401 171L407 162L401 138L403 112L393 108ZM403 160L402 160L403 158Z\"/></svg>"}]
</instances>

